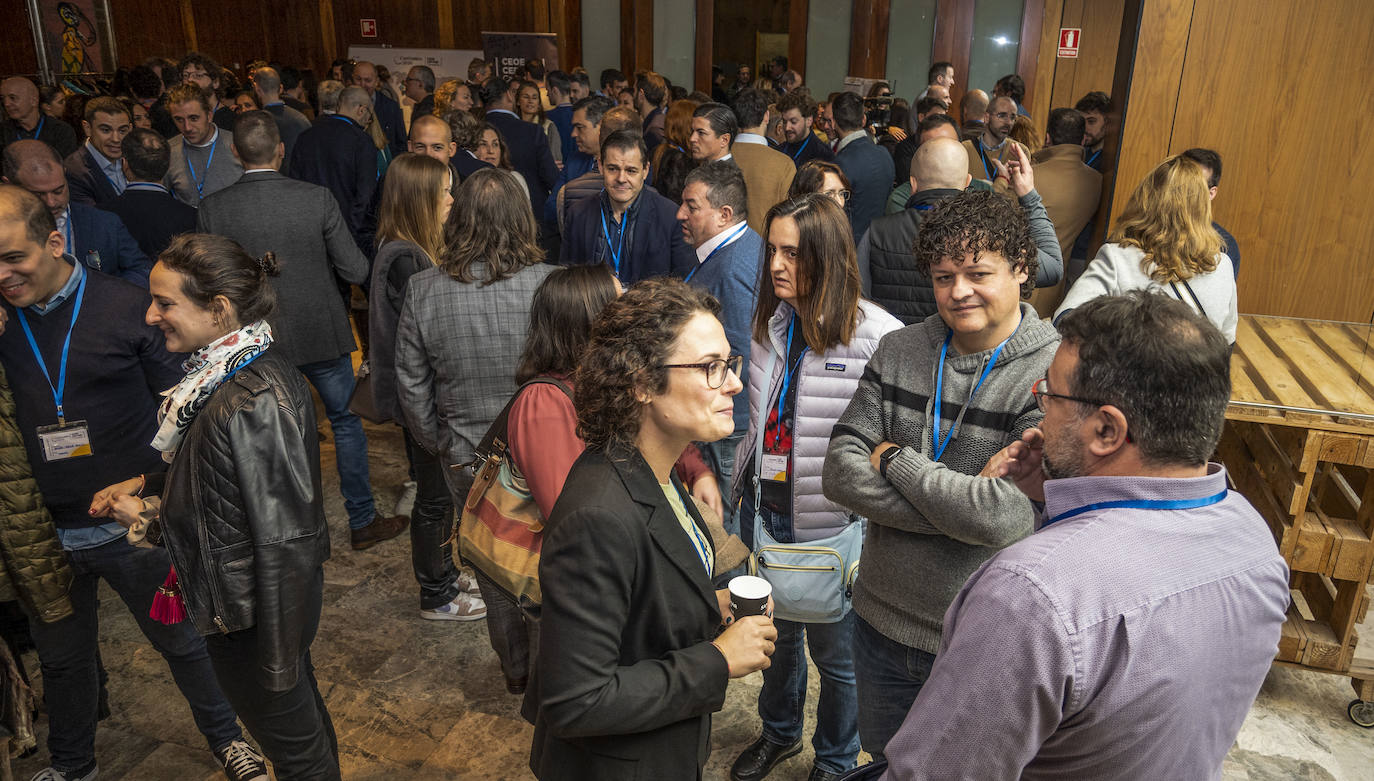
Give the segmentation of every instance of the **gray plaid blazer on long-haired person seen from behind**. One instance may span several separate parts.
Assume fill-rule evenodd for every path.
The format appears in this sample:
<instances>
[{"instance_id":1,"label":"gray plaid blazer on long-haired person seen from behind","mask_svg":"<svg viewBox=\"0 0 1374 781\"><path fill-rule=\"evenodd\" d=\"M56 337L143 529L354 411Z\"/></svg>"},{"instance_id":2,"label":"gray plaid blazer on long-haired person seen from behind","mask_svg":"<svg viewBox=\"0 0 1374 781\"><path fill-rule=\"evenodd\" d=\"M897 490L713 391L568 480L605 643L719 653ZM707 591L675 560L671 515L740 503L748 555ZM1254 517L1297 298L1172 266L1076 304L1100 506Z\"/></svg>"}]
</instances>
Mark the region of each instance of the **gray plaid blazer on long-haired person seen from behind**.
<instances>
[{"instance_id":1,"label":"gray plaid blazer on long-haired person seen from behind","mask_svg":"<svg viewBox=\"0 0 1374 781\"><path fill-rule=\"evenodd\" d=\"M474 268L485 276L485 263ZM534 289L552 271L540 263L486 286L442 268L411 278L396 327L396 395L411 436L445 465L473 459L515 393ZM471 481L453 470L445 476L455 490Z\"/></svg>"}]
</instances>

